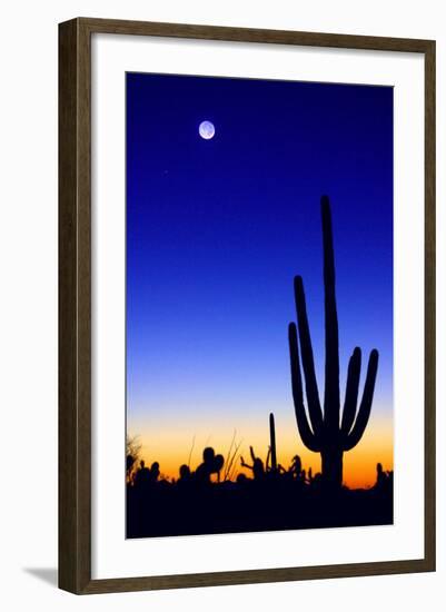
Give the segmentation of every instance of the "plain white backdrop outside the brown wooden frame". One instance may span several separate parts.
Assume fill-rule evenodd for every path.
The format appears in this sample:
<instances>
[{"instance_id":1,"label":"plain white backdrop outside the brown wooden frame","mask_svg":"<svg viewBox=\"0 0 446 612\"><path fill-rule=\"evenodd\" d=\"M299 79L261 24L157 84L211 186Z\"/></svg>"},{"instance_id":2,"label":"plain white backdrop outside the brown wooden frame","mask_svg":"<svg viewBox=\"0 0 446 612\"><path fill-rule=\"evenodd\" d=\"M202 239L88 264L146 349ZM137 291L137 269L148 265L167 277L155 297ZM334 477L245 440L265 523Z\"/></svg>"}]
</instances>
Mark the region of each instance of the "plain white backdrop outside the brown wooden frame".
<instances>
[{"instance_id":1,"label":"plain white backdrop outside the brown wooden frame","mask_svg":"<svg viewBox=\"0 0 446 612\"><path fill-rule=\"evenodd\" d=\"M446 326L438 317L436 574L75 598L57 562L57 27L75 16L437 39L437 310L446 312L446 30L442 1L17 1L2 13L0 600L7 610L439 611L445 604ZM12 8L13 7L13 8Z\"/></svg>"}]
</instances>

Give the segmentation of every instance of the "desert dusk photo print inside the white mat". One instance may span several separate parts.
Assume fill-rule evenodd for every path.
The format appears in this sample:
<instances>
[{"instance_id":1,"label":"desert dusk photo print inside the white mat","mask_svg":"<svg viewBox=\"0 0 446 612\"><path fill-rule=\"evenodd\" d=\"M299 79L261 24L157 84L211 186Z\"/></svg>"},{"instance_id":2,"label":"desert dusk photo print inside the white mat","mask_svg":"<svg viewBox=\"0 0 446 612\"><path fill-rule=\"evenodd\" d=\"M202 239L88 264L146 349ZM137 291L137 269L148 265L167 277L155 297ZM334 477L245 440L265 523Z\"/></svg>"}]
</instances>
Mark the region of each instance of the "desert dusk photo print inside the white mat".
<instances>
[{"instance_id":1,"label":"desert dusk photo print inside the white mat","mask_svg":"<svg viewBox=\"0 0 446 612\"><path fill-rule=\"evenodd\" d=\"M393 88L126 75L126 536L393 524Z\"/></svg>"}]
</instances>

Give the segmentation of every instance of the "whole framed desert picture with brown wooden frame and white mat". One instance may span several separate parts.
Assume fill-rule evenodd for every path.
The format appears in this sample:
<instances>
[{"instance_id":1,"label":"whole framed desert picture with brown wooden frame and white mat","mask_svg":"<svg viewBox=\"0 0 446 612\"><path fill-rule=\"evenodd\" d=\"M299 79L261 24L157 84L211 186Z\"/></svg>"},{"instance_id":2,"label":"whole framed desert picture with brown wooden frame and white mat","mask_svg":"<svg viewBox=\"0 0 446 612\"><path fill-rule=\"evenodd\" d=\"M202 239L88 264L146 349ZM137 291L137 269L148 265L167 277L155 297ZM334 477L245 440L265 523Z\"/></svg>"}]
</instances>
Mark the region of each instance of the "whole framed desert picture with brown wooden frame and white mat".
<instances>
[{"instance_id":1,"label":"whole framed desert picture with brown wooden frame and white mat","mask_svg":"<svg viewBox=\"0 0 446 612\"><path fill-rule=\"evenodd\" d=\"M59 584L435 569L435 42L59 27Z\"/></svg>"}]
</instances>

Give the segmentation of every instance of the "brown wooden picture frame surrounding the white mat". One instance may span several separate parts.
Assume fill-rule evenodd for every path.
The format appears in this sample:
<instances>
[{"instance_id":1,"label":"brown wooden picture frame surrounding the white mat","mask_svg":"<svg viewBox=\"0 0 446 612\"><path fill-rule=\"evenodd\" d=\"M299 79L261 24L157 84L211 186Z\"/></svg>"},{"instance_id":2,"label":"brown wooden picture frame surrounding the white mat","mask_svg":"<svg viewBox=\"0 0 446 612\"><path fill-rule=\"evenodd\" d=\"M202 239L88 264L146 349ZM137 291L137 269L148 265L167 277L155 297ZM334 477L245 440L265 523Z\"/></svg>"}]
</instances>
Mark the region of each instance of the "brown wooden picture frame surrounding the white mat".
<instances>
[{"instance_id":1,"label":"brown wooden picture frame surrounding the white mat","mask_svg":"<svg viewBox=\"0 0 446 612\"><path fill-rule=\"evenodd\" d=\"M425 66L425 552L422 559L91 579L93 33L420 53ZM435 570L435 41L79 18L59 26L59 586L77 594Z\"/></svg>"}]
</instances>

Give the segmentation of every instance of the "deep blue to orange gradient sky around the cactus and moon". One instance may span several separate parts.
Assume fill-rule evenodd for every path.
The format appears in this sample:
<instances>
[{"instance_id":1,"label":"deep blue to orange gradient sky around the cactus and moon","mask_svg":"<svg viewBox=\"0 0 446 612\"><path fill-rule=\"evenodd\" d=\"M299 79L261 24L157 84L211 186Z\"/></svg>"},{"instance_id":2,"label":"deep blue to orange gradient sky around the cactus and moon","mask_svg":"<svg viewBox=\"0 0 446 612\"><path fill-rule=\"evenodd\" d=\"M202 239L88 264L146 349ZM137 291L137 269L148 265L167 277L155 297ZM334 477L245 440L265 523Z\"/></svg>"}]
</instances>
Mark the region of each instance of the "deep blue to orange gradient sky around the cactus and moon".
<instances>
[{"instance_id":1,"label":"deep blue to orange gradient sky around the cactus and moon","mask_svg":"<svg viewBox=\"0 0 446 612\"><path fill-rule=\"evenodd\" d=\"M204 140L202 120L216 135ZM307 298L324 389L320 196L330 197L341 392L355 346L380 361L345 481L393 467L393 89L127 75L127 427L176 475L205 445L319 456L298 436L287 326Z\"/></svg>"}]
</instances>

